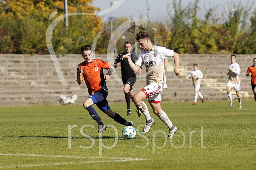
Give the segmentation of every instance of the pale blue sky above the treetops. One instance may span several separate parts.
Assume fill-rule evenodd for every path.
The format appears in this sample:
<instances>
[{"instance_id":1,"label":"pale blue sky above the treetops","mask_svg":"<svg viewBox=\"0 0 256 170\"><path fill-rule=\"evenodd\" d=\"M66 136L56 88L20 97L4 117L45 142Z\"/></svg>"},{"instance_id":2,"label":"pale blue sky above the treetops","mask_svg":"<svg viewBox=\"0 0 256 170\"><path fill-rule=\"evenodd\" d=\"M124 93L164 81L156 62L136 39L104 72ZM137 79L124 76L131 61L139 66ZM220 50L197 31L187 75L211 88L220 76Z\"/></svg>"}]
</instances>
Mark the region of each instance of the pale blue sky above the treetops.
<instances>
[{"instance_id":1,"label":"pale blue sky above the treetops","mask_svg":"<svg viewBox=\"0 0 256 170\"><path fill-rule=\"evenodd\" d=\"M94 0L92 1L93 6L100 7L101 11L106 10L107 8L110 8L110 2L113 0ZM117 7L114 11L112 11L112 17L122 17L127 16L130 18L132 15L132 18L139 18L139 15L146 15L146 0L116 0L119 4L122 3L119 7ZM209 9L210 7L219 6L220 13L224 12L224 9L226 11L229 10L229 7L231 6L231 3L238 4L242 2L242 0L199 0L199 6L201 7L201 10L199 11L200 14L204 14L206 9ZM251 6L253 1L255 0L243 0L243 6L246 6L247 2ZM182 0L183 6L186 6L189 4L189 2L194 2L194 0ZM172 0L148 0L148 5L150 7L150 15L149 17L156 21L166 21L166 18L168 18L167 14L167 3L172 4ZM112 4L113 7L114 4ZM232 6L233 7L233 6ZM256 8L256 2L253 4L253 9ZM206 8L206 9L205 9ZM253 11L253 10L252 10ZM100 15L102 18L102 21L106 21L108 17L110 17L110 13Z\"/></svg>"}]
</instances>

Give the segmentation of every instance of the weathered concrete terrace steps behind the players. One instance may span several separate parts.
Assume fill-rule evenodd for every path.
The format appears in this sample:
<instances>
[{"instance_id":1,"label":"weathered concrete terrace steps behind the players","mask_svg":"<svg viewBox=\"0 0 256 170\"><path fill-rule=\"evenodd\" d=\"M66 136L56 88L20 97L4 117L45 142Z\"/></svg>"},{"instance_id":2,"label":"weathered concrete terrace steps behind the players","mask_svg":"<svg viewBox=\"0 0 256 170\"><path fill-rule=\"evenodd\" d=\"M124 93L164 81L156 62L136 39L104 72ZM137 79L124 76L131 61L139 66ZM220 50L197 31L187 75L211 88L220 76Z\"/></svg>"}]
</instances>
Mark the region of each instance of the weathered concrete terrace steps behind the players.
<instances>
[{"instance_id":1,"label":"weathered concrete terrace steps behind the players","mask_svg":"<svg viewBox=\"0 0 256 170\"><path fill-rule=\"evenodd\" d=\"M8 58L8 80L6 80L6 63L0 61L0 105L27 105L27 104L57 104L57 97L60 95L73 96L78 95L76 104L82 104L88 95L88 90L83 83L78 85L76 82L76 70L74 61L59 60L61 71L67 83L62 86L60 79L51 61L50 55L16 55L16 54L0 54L1 57ZM253 55L243 55L243 58L254 58ZM39 61L39 80L37 80L37 59L49 58L49 60ZM80 54L57 55L57 58L74 58L76 65L83 62ZM107 55L96 55L96 58L102 58L108 61ZM114 58L110 59L111 64ZM191 63L191 58L193 63ZM241 73L242 95L250 97L253 95L250 86L250 77L246 77L245 73L248 66L252 65L251 59L237 60ZM163 101L193 101L194 89L191 79L186 76L193 69L193 64L198 64L199 70L204 74L201 80L200 91L206 98L206 101L228 100L226 96L226 75L227 66L230 62L230 55L180 55L179 70L182 71L180 76L173 77L173 62L166 61L166 83L168 89L164 89L162 93ZM107 71L104 70L104 73ZM107 81L108 86L108 102L125 102L123 85L114 78L118 76L121 80L121 68L115 69L111 79ZM146 86L145 69L133 87L135 93ZM232 91L232 94L235 92ZM61 104L61 103L60 103Z\"/></svg>"}]
</instances>

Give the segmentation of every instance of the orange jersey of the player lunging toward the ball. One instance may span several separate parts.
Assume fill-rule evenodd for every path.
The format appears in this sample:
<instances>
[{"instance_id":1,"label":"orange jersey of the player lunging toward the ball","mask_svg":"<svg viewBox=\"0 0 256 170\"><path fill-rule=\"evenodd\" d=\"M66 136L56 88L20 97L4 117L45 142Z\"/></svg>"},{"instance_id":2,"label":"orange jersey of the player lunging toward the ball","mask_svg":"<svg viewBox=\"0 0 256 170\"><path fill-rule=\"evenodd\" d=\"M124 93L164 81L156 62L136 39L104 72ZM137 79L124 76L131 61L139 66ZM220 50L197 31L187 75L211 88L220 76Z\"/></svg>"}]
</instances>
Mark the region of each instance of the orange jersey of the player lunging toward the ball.
<instances>
[{"instance_id":1,"label":"orange jersey of the player lunging toward the ball","mask_svg":"<svg viewBox=\"0 0 256 170\"><path fill-rule=\"evenodd\" d=\"M77 79L78 71L82 69L83 79L85 80L86 86L88 88L88 93L91 95L95 91L101 90L104 88L107 90L106 81L104 78L103 69L109 69L111 66L110 63L106 63L102 59L92 59L90 64L87 64L85 61L80 63L77 67Z\"/></svg>"}]
</instances>

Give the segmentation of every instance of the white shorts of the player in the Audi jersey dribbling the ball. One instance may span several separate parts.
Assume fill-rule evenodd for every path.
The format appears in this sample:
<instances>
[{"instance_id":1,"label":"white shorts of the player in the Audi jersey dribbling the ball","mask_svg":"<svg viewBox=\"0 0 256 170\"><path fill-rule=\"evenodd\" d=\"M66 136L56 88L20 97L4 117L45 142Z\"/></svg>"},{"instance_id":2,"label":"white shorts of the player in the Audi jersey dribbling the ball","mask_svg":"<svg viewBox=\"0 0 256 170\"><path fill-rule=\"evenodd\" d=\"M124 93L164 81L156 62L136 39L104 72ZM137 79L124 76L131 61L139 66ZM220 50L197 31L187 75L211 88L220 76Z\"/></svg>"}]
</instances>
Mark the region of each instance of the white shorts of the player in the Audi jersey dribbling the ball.
<instances>
[{"instance_id":1,"label":"white shorts of the player in the Audi jersey dribbling the ball","mask_svg":"<svg viewBox=\"0 0 256 170\"><path fill-rule=\"evenodd\" d=\"M161 101L161 93L164 89L156 83L149 83L142 91L146 94L148 101Z\"/></svg>"}]
</instances>

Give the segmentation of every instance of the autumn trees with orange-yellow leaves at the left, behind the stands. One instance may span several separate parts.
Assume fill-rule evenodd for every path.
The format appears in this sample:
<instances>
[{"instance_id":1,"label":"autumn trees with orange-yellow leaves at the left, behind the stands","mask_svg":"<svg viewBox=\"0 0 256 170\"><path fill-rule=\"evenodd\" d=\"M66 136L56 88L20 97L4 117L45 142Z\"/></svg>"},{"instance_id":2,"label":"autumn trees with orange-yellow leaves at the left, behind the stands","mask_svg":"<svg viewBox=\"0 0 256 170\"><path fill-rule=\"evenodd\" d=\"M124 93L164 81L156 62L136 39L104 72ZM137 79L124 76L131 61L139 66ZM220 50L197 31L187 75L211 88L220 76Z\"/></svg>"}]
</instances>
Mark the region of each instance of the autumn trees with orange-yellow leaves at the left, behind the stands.
<instances>
[{"instance_id":1,"label":"autumn trees with orange-yellow leaves at the left, behind the stands","mask_svg":"<svg viewBox=\"0 0 256 170\"><path fill-rule=\"evenodd\" d=\"M68 13L94 13L92 0L68 1ZM51 20L49 15L57 11ZM0 3L0 52L48 53L46 31L51 21L63 15L62 0L6 0ZM79 53L81 45L92 44L102 29L101 18L95 15L68 17L67 30L59 22L53 32L55 53Z\"/></svg>"}]
</instances>

